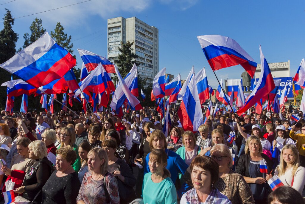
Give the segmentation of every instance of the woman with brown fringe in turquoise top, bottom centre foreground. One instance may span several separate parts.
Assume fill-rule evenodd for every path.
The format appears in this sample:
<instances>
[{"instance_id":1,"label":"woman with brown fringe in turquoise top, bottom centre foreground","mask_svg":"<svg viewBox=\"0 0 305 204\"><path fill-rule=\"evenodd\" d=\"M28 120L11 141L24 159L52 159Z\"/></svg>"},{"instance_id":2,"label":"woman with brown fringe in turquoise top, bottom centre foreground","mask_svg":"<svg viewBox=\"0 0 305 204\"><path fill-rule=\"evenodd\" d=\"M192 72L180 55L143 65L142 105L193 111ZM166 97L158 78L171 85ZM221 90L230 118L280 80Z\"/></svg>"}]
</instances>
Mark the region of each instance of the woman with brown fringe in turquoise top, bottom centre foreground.
<instances>
[{"instance_id":1,"label":"woman with brown fringe in turquoise top, bottom centre foreground","mask_svg":"<svg viewBox=\"0 0 305 204\"><path fill-rule=\"evenodd\" d=\"M150 172L144 175L142 197L149 204L177 204L177 192L170 172L165 168L167 155L163 150L153 150L149 154Z\"/></svg>"}]
</instances>

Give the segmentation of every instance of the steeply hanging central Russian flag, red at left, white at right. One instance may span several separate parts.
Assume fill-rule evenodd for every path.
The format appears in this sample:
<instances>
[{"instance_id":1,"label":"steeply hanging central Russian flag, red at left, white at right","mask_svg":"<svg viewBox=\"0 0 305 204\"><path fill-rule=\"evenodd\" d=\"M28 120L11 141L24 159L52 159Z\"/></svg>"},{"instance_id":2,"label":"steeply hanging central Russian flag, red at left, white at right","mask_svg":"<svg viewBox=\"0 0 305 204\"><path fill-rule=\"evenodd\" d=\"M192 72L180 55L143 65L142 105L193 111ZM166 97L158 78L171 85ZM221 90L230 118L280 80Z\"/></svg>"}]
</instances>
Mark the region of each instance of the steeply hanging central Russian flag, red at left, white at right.
<instances>
[{"instance_id":1,"label":"steeply hanging central Russian flag, red at left, white at right","mask_svg":"<svg viewBox=\"0 0 305 204\"><path fill-rule=\"evenodd\" d=\"M203 124L203 114L195 77L191 78L186 87L184 97L178 109L178 116L185 131L197 132L198 127Z\"/></svg>"}]
</instances>

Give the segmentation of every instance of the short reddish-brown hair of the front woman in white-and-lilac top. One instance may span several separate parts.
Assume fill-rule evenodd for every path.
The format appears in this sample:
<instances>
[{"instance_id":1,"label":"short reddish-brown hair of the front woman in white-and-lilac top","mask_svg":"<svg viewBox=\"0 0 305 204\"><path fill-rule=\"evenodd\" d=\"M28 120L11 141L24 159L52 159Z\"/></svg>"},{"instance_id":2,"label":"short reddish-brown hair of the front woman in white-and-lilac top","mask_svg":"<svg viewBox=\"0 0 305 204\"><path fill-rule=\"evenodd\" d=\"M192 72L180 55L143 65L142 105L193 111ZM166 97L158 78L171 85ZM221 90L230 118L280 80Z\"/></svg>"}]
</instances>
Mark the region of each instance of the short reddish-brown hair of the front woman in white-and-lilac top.
<instances>
[{"instance_id":1,"label":"short reddish-brown hair of the front woman in white-and-lilac top","mask_svg":"<svg viewBox=\"0 0 305 204\"><path fill-rule=\"evenodd\" d=\"M193 171L194 166L198 166L206 171L209 171L211 174L211 185L215 184L219 177L219 165L218 163L210 157L198 155L196 156L190 165L191 172Z\"/></svg>"}]
</instances>

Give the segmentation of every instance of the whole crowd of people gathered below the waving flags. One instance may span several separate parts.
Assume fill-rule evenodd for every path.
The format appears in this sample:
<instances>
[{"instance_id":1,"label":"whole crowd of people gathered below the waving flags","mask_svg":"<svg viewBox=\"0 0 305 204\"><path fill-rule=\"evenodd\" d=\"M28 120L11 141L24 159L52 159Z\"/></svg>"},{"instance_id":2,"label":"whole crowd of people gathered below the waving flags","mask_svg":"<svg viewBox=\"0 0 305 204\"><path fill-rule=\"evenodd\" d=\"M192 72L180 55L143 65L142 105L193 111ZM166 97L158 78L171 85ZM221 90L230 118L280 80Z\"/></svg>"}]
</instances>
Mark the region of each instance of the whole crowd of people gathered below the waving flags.
<instances>
[{"instance_id":1,"label":"whole crowd of people gathered below the waving flags","mask_svg":"<svg viewBox=\"0 0 305 204\"><path fill-rule=\"evenodd\" d=\"M303 118L298 107L241 117L221 108L198 132L169 112L166 137L155 107L123 116L2 111L2 192L39 204L304 203L305 121L291 117ZM273 177L283 184L274 191Z\"/></svg>"}]
</instances>

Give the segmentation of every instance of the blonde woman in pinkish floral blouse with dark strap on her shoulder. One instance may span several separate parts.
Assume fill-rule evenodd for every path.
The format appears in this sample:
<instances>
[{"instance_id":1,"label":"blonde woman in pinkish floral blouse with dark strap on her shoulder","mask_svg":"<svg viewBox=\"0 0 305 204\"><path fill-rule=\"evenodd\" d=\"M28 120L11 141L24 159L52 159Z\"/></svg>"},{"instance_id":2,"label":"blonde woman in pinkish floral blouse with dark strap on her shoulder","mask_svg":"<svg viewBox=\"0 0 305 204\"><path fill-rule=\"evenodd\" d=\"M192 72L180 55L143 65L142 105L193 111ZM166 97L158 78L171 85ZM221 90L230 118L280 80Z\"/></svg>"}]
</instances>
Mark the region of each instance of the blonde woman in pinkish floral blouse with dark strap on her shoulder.
<instances>
[{"instance_id":1,"label":"blonde woman in pinkish floral blouse with dark strap on her shoulder","mask_svg":"<svg viewBox=\"0 0 305 204\"><path fill-rule=\"evenodd\" d=\"M88 169L78 192L77 204L120 203L116 178L108 172L105 150L95 147L89 151Z\"/></svg>"}]
</instances>

